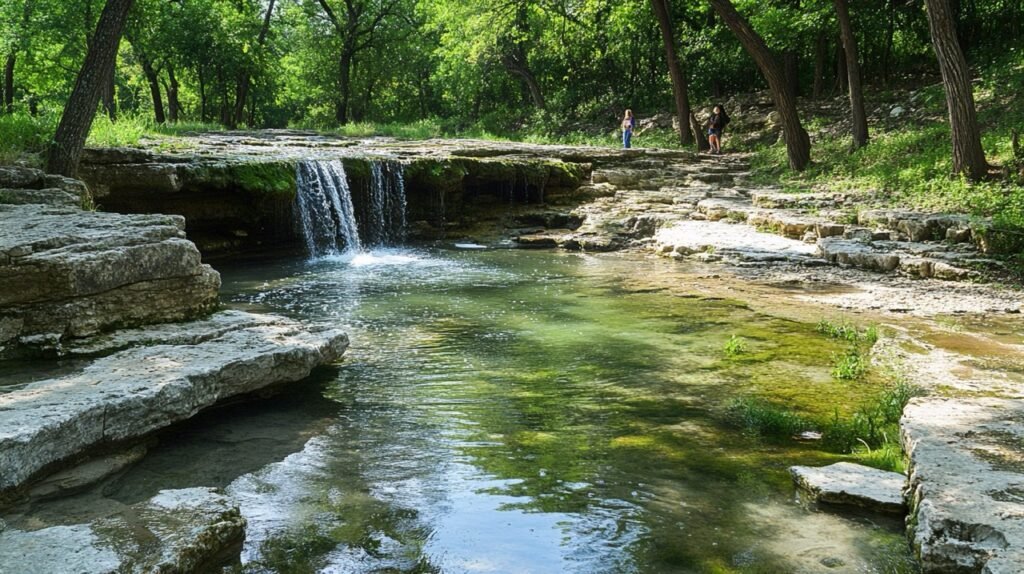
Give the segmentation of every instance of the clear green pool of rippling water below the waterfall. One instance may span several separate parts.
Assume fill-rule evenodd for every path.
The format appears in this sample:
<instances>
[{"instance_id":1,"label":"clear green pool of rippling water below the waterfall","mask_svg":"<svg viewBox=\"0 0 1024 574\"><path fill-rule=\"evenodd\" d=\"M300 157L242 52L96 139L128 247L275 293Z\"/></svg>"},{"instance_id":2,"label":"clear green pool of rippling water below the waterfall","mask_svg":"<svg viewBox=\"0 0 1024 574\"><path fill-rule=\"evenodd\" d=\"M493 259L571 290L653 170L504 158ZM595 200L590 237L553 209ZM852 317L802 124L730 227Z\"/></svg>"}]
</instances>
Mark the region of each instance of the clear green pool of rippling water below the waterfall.
<instances>
[{"instance_id":1,"label":"clear green pool of rippling water below the waterfall","mask_svg":"<svg viewBox=\"0 0 1024 574\"><path fill-rule=\"evenodd\" d=\"M226 487L249 524L242 572L914 572L898 520L799 500L787 468L840 456L725 421L750 396L851 412L878 382L835 381L845 346L813 322L642 286L681 269L443 250L222 269L232 307L349 330L318 398L274 415L305 442L283 456L275 418L211 414L102 496ZM263 442L225 458L211 435Z\"/></svg>"}]
</instances>

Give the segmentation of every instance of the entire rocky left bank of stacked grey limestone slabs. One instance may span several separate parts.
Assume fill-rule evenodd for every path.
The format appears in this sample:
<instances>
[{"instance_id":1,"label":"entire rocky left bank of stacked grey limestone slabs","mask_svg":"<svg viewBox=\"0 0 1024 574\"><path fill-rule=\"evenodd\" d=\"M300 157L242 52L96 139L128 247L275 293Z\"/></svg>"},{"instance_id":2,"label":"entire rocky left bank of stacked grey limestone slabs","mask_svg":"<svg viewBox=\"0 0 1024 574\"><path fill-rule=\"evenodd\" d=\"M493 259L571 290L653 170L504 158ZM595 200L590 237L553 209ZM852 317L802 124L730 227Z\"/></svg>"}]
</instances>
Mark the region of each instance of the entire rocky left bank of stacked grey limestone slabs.
<instances>
[{"instance_id":1,"label":"entire rocky left bank of stacked grey limestone slabs","mask_svg":"<svg viewBox=\"0 0 1024 574\"><path fill-rule=\"evenodd\" d=\"M0 362L0 516L102 480L157 431L300 381L348 345L336 328L216 312L220 276L184 218L83 210L86 193L0 168L0 359L40 366L7 376ZM0 572L204 572L244 537L222 493L164 491L89 524L23 531L0 519Z\"/></svg>"}]
</instances>

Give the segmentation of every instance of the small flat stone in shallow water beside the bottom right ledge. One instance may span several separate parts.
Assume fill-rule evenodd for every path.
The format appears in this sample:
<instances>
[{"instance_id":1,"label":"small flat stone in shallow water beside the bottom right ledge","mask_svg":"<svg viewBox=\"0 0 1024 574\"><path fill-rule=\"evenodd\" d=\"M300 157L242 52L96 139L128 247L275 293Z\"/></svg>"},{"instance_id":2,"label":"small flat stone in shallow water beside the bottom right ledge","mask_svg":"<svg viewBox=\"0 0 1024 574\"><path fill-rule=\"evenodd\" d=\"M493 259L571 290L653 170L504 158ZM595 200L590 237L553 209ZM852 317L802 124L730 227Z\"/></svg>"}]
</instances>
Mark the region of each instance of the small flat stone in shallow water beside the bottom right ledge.
<instances>
[{"instance_id":1,"label":"small flat stone in shallow water beside the bottom right ledge","mask_svg":"<svg viewBox=\"0 0 1024 574\"><path fill-rule=\"evenodd\" d=\"M885 513L902 513L906 477L853 462L827 467L791 467L797 486L818 501L853 504Z\"/></svg>"}]
</instances>

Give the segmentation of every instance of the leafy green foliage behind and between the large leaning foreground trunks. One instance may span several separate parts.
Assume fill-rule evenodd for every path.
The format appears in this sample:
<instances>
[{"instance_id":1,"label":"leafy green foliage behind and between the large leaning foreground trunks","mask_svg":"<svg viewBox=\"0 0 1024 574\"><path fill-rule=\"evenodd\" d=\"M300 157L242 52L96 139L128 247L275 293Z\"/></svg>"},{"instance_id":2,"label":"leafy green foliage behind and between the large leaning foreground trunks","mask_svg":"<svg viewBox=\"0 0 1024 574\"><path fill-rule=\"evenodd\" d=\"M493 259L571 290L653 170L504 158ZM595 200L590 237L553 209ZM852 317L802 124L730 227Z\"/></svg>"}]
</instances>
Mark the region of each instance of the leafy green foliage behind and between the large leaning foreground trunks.
<instances>
[{"instance_id":1,"label":"leafy green foliage behind and between the large leaning foreground trunks","mask_svg":"<svg viewBox=\"0 0 1024 574\"><path fill-rule=\"evenodd\" d=\"M6 113L59 114L103 0L4 0ZM691 99L762 89L705 0L670 2ZM796 93L846 89L831 0L736 0ZM925 0L853 0L862 76L937 78ZM1020 0L954 0L972 63L1020 57ZM440 119L558 132L672 109L648 0L137 0L103 107L154 123L330 128Z\"/></svg>"}]
</instances>

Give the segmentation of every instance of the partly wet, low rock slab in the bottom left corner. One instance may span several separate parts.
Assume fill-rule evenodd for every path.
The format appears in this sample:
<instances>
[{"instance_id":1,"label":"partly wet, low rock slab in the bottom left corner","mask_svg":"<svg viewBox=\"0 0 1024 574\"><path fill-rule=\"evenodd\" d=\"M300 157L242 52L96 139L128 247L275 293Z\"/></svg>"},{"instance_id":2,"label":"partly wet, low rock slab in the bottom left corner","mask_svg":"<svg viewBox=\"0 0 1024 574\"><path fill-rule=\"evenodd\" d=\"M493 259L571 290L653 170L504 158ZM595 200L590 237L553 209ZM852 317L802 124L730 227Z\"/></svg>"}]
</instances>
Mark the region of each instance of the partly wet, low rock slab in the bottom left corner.
<instances>
[{"instance_id":1,"label":"partly wet, low rock slab in the bottom left corner","mask_svg":"<svg viewBox=\"0 0 1024 574\"><path fill-rule=\"evenodd\" d=\"M163 490L90 524L0 532L0 574L207 571L241 549L245 526L213 489Z\"/></svg>"}]
</instances>

